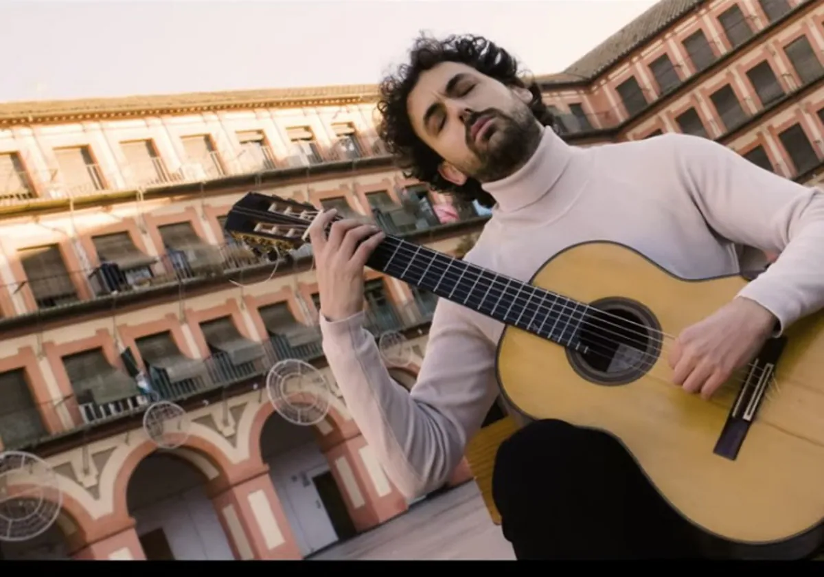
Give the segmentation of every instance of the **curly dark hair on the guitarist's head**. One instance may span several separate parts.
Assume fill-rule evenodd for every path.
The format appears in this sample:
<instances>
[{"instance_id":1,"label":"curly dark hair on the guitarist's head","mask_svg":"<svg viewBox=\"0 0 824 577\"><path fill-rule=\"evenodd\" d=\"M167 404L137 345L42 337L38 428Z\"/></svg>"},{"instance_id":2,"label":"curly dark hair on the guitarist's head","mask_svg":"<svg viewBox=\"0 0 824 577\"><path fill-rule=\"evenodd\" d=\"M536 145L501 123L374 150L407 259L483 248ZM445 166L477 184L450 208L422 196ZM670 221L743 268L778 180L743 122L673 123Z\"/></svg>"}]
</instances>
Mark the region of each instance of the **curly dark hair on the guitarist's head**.
<instances>
[{"instance_id":1,"label":"curly dark hair on the guitarist's head","mask_svg":"<svg viewBox=\"0 0 824 577\"><path fill-rule=\"evenodd\" d=\"M457 199L492 208L495 200L470 178L463 185L447 181L438 172L442 158L415 134L406 109L410 91L420 74L442 62L463 63L509 87L527 88L532 94L529 108L538 122L555 128L555 116L541 99L541 89L534 81L521 77L517 60L491 40L477 35L451 35L444 40L419 36L410 50L410 62L402 64L394 75L383 79L377 110L382 115L378 135L386 143L396 164L407 178L426 182L434 190L454 195Z\"/></svg>"}]
</instances>

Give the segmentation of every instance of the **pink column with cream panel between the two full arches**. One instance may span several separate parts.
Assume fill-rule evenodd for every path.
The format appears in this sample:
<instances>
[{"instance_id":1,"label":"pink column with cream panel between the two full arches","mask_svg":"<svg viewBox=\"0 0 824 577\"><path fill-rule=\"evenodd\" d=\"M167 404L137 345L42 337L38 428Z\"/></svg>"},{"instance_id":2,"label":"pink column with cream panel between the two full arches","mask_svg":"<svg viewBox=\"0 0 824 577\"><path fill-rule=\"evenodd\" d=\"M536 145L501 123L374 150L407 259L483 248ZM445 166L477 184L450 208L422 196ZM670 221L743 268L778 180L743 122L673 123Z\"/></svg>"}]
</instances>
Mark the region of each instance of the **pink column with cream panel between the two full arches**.
<instances>
[{"instance_id":1,"label":"pink column with cream panel between the two full arches","mask_svg":"<svg viewBox=\"0 0 824 577\"><path fill-rule=\"evenodd\" d=\"M236 559L302 558L268 467L209 493Z\"/></svg>"}]
</instances>

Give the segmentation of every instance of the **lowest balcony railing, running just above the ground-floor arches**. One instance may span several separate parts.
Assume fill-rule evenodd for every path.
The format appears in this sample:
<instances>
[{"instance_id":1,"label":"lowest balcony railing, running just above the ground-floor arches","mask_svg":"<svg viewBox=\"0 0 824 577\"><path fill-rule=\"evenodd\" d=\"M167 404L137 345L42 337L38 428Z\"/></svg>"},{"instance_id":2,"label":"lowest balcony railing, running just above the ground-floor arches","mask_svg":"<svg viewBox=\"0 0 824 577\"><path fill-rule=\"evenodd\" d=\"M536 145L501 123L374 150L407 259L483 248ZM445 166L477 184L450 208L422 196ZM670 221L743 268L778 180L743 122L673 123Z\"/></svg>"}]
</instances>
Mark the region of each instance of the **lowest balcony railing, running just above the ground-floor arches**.
<instances>
[{"instance_id":1,"label":"lowest balcony railing, running just above the ground-floor arches","mask_svg":"<svg viewBox=\"0 0 824 577\"><path fill-rule=\"evenodd\" d=\"M435 300L422 298L401 307L389 305L367 312L366 328L377 336L386 331L404 331L422 326L432 320ZM172 374L163 369L149 370L146 381L150 391L138 388L135 394L118 401L97 404L91 395L69 396L24 410L3 411L0 408L0 442L2 448L25 448L55 439L80 429L89 429L124 416L134 415L147 408L152 401L179 402L191 396L231 387L241 382L262 379L275 363L284 359L311 361L323 356L321 332L317 326L302 327L304 344L288 345L281 335L274 335L260 343L263 354L244 362L232 355L218 352L208 359L191 360L185 374ZM105 383L104 383L105 384Z\"/></svg>"}]
</instances>

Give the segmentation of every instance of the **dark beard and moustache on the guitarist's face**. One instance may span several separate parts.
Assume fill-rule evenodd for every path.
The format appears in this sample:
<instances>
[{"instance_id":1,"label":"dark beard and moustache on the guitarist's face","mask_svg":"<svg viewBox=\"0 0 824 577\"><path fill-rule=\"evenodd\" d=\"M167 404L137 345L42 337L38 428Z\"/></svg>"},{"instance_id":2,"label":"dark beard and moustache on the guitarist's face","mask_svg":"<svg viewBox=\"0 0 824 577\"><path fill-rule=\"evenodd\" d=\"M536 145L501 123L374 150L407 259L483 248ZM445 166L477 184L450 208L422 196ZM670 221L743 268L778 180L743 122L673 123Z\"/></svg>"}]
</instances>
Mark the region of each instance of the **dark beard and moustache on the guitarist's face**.
<instances>
[{"instance_id":1,"label":"dark beard and moustache on the guitarist's face","mask_svg":"<svg viewBox=\"0 0 824 577\"><path fill-rule=\"evenodd\" d=\"M491 116L480 141L471 137L472 124ZM543 130L525 104L510 113L495 108L482 110L466 121L466 146L475 155L473 170L466 174L480 182L499 181L527 163L541 143Z\"/></svg>"}]
</instances>

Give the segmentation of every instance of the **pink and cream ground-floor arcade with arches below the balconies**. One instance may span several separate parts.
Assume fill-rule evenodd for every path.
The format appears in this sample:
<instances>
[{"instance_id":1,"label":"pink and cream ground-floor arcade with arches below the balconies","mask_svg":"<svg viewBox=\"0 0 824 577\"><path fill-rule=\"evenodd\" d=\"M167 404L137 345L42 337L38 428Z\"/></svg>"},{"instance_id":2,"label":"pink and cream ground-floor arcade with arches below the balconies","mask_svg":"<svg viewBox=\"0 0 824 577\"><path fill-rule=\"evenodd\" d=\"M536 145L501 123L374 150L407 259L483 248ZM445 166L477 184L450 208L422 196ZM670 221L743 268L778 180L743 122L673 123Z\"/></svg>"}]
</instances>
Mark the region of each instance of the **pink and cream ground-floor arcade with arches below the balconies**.
<instances>
[{"instance_id":1,"label":"pink and cream ground-floor arcade with arches below the balconies","mask_svg":"<svg viewBox=\"0 0 824 577\"><path fill-rule=\"evenodd\" d=\"M409 509L339 396L311 427L283 420L260 390L188 423L175 449L138 428L49 457L58 523L2 543L2 558L301 559ZM463 463L450 484L469 478Z\"/></svg>"}]
</instances>

